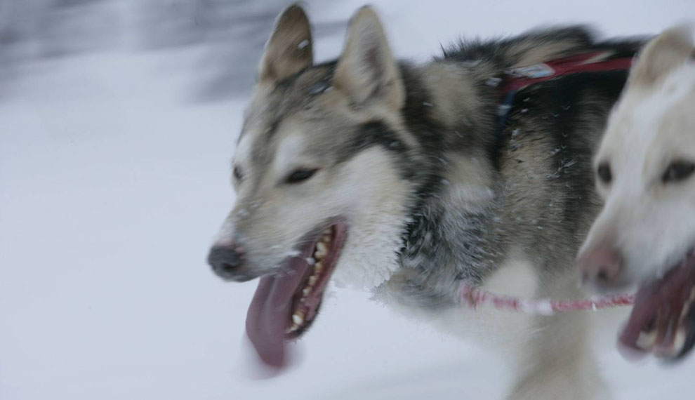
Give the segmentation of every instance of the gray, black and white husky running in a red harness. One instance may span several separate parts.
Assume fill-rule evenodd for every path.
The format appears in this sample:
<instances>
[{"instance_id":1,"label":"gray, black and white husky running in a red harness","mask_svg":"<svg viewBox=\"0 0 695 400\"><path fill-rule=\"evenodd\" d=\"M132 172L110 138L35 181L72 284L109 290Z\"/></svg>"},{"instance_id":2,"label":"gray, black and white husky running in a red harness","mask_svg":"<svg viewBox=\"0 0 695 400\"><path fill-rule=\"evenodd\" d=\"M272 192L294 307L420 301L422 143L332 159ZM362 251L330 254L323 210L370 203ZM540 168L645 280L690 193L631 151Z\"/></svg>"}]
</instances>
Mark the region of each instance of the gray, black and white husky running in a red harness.
<instances>
[{"instance_id":1,"label":"gray, black and white husky running in a red harness","mask_svg":"<svg viewBox=\"0 0 695 400\"><path fill-rule=\"evenodd\" d=\"M470 311L463 282L527 298L575 298L575 256L600 199L593 148L626 72L582 73L519 91L516 67L606 50L580 27L462 42L425 65L393 58L369 7L343 52L315 64L300 6L279 16L233 161L237 200L209 254L229 281L260 277L246 331L282 366L329 281L366 289L447 331L505 347L512 399L605 399L586 314ZM487 330L486 330L487 329Z\"/></svg>"}]
</instances>

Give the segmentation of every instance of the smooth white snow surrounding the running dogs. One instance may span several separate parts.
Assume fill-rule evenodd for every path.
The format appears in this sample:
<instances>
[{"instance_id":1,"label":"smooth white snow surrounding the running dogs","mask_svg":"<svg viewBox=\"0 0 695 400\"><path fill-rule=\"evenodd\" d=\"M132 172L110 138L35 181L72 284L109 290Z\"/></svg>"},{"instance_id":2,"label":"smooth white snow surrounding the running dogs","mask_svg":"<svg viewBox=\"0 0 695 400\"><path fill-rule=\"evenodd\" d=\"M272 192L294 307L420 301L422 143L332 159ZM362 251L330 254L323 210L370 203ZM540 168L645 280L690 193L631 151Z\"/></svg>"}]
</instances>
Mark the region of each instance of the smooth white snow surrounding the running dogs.
<instances>
[{"instance_id":1,"label":"smooth white snow surrounding the running dogs","mask_svg":"<svg viewBox=\"0 0 695 400\"><path fill-rule=\"evenodd\" d=\"M395 52L420 60L458 34L695 19L692 0L373 3ZM330 21L355 6L310 11ZM319 58L341 42L319 39ZM501 398L502 359L350 291L326 301L296 368L253 378L243 324L256 282L223 284L204 263L233 200L243 99L187 101L196 60L123 46L29 65L0 103L0 399ZM665 368L602 354L618 399L695 389L695 356Z\"/></svg>"}]
</instances>

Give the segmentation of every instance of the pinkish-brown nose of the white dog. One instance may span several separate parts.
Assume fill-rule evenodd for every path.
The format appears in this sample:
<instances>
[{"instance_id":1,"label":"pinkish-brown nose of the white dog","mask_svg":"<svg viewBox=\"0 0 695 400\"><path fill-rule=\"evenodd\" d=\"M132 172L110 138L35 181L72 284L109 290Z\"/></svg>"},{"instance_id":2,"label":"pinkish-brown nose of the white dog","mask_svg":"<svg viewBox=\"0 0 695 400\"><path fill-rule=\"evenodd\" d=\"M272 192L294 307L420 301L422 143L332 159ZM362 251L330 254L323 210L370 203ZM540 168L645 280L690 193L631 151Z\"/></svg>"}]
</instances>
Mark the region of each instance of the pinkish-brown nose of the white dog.
<instances>
[{"instance_id":1,"label":"pinkish-brown nose of the white dog","mask_svg":"<svg viewBox=\"0 0 695 400\"><path fill-rule=\"evenodd\" d=\"M579 255L577 266L583 283L611 287L618 283L623 258L615 248L591 248Z\"/></svg>"}]
</instances>

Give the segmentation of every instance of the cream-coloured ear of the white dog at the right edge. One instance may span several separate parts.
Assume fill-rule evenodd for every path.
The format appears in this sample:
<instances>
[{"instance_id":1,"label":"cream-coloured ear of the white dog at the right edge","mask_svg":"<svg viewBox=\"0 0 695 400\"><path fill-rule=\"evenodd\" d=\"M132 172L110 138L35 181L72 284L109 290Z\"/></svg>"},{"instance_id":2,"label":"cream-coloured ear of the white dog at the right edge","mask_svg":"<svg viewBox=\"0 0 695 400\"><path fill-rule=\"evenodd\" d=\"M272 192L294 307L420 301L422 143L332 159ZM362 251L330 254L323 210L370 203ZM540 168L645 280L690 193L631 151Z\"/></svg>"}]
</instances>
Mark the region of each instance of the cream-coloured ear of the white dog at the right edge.
<instances>
[{"instance_id":1,"label":"cream-coloured ear of the white dog at the right edge","mask_svg":"<svg viewBox=\"0 0 695 400\"><path fill-rule=\"evenodd\" d=\"M670 28L655 39L637 56L630 72L630 82L651 85L675 67L682 65L693 56L693 27L679 25Z\"/></svg>"}]
</instances>

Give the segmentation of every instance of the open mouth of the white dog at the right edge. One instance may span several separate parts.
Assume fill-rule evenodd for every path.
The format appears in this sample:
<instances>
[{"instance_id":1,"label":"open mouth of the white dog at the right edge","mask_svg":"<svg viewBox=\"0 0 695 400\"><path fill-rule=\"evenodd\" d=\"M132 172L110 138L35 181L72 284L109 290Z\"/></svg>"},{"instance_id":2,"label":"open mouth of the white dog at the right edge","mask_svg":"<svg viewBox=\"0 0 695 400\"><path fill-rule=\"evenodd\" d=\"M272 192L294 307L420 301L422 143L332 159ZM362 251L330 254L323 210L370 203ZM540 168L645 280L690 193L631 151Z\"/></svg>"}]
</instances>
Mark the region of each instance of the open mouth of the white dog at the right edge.
<instances>
[{"instance_id":1,"label":"open mouth of the white dog at the right edge","mask_svg":"<svg viewBox=\"0 0 695 400\"><path fill-rule=\"evenodd\" d=\"M695 345L695 252L661 279L643 284L620 342L637 352L678 358Z\"/></svg>"}]
</instances>

